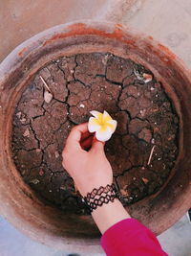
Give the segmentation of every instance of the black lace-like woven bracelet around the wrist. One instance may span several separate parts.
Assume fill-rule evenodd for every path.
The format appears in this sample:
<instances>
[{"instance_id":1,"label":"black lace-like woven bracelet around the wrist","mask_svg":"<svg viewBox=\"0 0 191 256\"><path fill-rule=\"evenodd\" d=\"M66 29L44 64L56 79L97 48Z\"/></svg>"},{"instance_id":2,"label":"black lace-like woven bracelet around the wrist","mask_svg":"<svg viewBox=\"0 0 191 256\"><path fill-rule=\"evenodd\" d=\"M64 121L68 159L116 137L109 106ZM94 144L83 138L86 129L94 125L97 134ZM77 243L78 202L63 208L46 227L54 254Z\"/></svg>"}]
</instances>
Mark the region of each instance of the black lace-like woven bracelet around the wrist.
<instances>
[{"instance_id":1,"label":"black lace-like woven bracelet around the wrist","mask_svg":"<svg viewBox=\"0 0 191 256\"><path fill-rule=\"evenodd\" d=\"M117 188L115 184L107 185L106 187L100 186L98 189L94 189L91 193L88 193L84 198L90 213L96 210L97 206L102 206L103 203L114 201L117 198Z\"/></svg>"}]
</instances>

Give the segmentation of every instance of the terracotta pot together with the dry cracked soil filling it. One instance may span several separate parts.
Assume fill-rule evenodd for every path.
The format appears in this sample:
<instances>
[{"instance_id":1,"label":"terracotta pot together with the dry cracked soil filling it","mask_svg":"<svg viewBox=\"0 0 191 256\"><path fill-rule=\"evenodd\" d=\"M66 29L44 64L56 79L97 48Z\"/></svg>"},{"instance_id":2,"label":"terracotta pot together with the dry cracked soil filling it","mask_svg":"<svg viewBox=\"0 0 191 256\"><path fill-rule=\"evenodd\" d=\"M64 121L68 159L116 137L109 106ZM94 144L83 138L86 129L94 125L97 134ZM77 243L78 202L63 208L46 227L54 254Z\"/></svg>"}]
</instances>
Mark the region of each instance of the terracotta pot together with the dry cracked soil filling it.
<instances>
[{"instance_id":1,"label":"terracotta pot together with the dry cracked soil filling it","mask_svg":"<svg viewBox=\"0 0 191 256\"><path fill-rule=\"evenodd\" d=\"M8 202L2 212L16 226L23 222L20 229L46 244L59 244L61 238L69 244L81 244L84 238L97 244L99 232L83 203L79 201L80 212L78 205L70 209L74 200L62 203L66 193L80 197L60 166L68 132L87 121L96 106L119 124L106 153L130 214L159 234L190 207L191 84L165 47L121 27L80 23L35 37L6 61L0 72L1 200ZM53 92L49 104L40 77ZM50 128L56 139L49 138ZM43 183L46 174L55 179L54 187L50 180ZM153 176L155 184L149 180Z\"/></svg>"}]
</instances>

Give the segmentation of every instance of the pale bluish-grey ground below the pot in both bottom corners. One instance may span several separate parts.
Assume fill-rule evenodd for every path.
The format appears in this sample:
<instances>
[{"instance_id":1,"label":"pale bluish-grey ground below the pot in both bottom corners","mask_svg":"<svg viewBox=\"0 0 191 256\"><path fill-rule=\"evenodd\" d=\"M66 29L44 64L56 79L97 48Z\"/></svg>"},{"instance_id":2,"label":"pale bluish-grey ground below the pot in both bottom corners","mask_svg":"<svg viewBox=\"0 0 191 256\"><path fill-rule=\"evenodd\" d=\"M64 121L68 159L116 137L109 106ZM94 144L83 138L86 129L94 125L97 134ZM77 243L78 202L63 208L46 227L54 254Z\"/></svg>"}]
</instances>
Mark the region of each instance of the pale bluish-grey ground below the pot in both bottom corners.
<instances>
[{"instance_id":1,"label":"pale bluish-grey ground below the pot in both bottom corners","mask_svg":"<svg viewBox=\"0 0 191 256\"><path fill-rule=\"evenodd\" d=\"M21 234L9 222L0 217L0 255L1 256L91 256L74 251L61 251L38 244ZM191 223L183 216L171 228L159 235L159 243L170 256L191 256ZM104 253L92 254L103 256Z\"/></svg>"}]
</instances>

